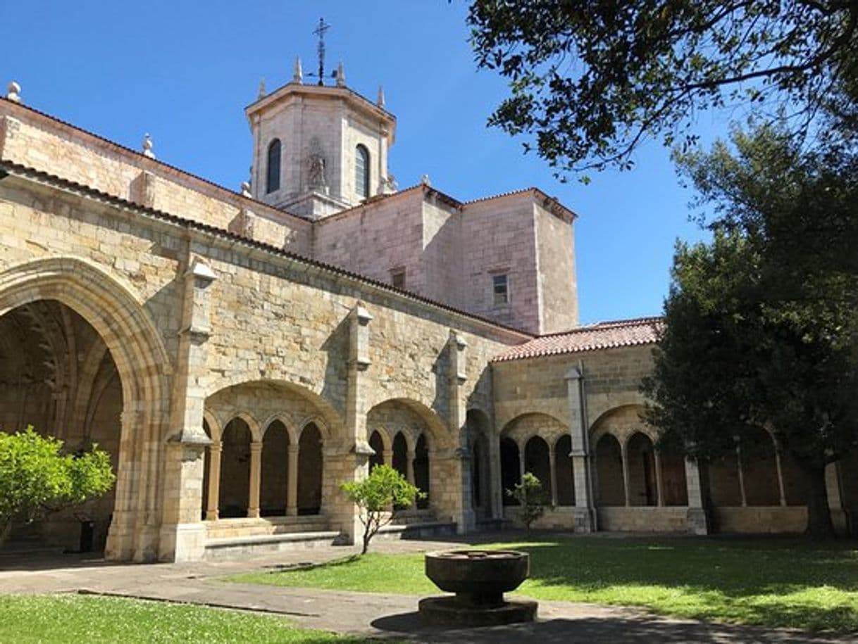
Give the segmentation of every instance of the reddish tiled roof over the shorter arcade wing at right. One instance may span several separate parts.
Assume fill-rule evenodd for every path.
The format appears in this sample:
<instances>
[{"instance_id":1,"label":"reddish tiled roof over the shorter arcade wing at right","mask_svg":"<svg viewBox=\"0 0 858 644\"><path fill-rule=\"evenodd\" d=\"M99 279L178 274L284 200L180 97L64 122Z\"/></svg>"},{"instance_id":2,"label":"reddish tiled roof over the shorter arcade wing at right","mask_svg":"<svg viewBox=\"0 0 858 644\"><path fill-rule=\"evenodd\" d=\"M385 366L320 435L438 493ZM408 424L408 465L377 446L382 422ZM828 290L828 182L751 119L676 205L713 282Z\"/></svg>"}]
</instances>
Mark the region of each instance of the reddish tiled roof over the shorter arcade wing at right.
<instances>
[{"instance_id":1,"label":"reddish tiled roof over the shorter arcade wing at right","mask_svg":"<svg viewBox=\"0 0 858 644\"><path fill-rule=\"evenodd\" d=\"M541 335L507 349L492 358L492 362L596 351L618 346L649 345L658 341L663 328L664 320L661 317L598 322L559 334Z\"/></svg>"}]
</instances>

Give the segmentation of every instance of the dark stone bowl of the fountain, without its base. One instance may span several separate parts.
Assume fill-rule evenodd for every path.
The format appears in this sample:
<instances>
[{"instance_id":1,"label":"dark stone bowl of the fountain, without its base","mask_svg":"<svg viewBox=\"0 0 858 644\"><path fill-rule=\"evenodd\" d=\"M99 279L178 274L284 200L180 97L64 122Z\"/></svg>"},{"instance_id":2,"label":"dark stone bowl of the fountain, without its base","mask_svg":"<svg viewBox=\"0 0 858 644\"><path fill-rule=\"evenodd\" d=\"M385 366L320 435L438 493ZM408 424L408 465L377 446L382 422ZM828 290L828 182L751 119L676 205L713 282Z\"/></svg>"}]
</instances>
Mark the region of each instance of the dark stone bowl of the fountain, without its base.
<instances>
[{"instance_id":1,"label":"dark stone bowl of the fountain, without its base","mask_svg":"<svg viewBox=\"0 0 858 644\"><path fill-rule=\"evenodd\" d=\"M447 593L497 601L527 579L530 557L511 550L438 551L426 553L425 566L426 576Z\"/></svg>"}]
</instances>

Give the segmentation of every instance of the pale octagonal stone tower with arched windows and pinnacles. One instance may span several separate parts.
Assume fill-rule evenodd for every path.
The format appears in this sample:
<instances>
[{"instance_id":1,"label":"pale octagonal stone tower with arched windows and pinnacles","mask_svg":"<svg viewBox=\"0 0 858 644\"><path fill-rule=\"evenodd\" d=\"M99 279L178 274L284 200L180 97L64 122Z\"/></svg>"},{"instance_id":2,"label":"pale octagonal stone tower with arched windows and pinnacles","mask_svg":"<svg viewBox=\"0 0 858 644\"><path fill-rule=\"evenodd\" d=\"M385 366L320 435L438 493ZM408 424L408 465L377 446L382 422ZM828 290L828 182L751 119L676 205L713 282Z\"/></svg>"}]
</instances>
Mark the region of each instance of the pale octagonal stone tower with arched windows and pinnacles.
<instances>
[{"instance_id":1,"label":"pale octagonal stone tower with arched windows and pinnacles","mask_svg":"<svg viewBox=\"0 0 858 644\"><path fill-rule=\"evenodd\" d=\"M252 195L309 220L396 190L387 170L396 117L384 109L384 93L373 103L349 89L342 63L326 85L322 61L317 83L305 84L296 58L292 81L271 93L261 85L245 108Z\"/></svg>"}]
</instances>

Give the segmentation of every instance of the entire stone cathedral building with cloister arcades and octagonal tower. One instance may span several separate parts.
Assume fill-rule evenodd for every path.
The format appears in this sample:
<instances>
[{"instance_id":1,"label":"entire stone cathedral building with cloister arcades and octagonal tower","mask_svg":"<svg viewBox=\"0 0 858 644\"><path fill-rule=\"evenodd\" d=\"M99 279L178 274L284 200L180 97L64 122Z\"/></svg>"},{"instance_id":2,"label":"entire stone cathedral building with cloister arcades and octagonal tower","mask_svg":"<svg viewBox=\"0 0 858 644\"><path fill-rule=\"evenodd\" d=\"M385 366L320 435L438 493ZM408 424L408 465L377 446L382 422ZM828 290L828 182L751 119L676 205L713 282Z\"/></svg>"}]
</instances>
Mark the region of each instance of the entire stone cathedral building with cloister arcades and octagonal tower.
<instances>
[{"instance_id":1,"label":"entire stone cathedral building with cloister arcades and octagonal tower","mask_svg":"<svg viewBox=\"0 0 858 644\"><path fill-rule=\"evenodd\" d=\"M579 324L573 210L536 187L398 187L396 117L343 69L307 82L296 61L260 88L239 190L24 97L0 99L0 429L97 443L117 473L27 528L45 543L76 549L82 525L113 560L351 543L340 485L379 463L426 493L390 538L514 525L523 472L550 498L536 527L803 531L771 436L699 466L655 448L639 387L662 321ZM826 472L841 532L856 467Z\"/></svg>"}]
</instances>

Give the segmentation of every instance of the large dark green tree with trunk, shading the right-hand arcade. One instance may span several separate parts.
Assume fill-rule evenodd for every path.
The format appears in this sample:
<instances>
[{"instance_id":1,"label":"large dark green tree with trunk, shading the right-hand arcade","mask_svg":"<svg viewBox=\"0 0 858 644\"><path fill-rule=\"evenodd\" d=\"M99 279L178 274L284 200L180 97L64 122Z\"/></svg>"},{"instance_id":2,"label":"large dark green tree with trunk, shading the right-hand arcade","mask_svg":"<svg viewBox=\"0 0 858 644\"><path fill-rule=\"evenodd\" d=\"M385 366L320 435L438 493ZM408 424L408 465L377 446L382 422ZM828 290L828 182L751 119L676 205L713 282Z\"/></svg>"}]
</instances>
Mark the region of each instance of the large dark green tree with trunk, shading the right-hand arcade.
<instances>
[{"instance_id":1,"label":"large dark green tree with trunk, shading the right-hand arcade","mask_svg":"<svg viewBox=\"0 0 858 644\"><path fill-rule=\"evenodd\" d=\"M825 466L858 441L858 160L770 126L733 143L677 159L715 208L714 239L678 244L646 416L704 461L770 430L825 537Z\"/></svg>"}]
</instances>

